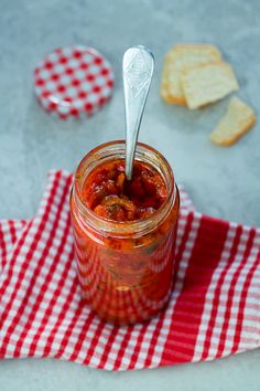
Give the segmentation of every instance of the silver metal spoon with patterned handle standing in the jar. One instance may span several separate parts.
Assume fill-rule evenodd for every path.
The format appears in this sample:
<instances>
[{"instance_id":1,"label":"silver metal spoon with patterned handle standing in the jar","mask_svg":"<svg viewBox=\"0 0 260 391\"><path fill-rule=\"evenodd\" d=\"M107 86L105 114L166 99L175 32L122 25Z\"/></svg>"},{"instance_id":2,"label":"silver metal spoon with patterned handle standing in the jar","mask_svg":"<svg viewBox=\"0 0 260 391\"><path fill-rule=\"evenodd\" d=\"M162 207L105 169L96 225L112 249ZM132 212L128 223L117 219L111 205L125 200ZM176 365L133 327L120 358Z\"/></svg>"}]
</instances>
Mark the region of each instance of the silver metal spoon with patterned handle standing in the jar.
<instances>
[{"instance_id":1,"label":"silver metal spoon with patterned handle standing in the jar","mask_svg":"<svg viewBox=\"0 0 260 391\"><path fill-rule=\"evenodd\" d=\"M126 108L126 177L132 178L132 168L152 74L154 59L144 46L128 49L122 60L122 76Z\"/></svg>"}]
</instances>

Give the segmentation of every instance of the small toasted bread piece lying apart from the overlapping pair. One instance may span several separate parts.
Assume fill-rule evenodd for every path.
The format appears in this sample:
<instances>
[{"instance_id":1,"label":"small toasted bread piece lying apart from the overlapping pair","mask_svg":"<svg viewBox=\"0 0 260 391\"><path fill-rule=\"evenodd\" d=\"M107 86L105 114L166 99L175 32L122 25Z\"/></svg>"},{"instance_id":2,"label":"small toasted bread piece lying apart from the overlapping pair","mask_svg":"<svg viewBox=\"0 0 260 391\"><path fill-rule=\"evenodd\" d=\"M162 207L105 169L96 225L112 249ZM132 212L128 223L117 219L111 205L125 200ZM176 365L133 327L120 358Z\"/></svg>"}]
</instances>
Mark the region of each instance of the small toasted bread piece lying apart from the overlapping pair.
<instances>
[{"instance_id":1,"label":"small toasted bread piece lying apart from the overlapping pair","mask_svg":"<svg viewBox=\"0 0 260 391\"><path fill-rule=\"evenodd\" d=\"M238 97L232 97L226 114L210 135L210 140L219 146L231 146L256 124L253 109Z\"/></svg>"}]
</instances>

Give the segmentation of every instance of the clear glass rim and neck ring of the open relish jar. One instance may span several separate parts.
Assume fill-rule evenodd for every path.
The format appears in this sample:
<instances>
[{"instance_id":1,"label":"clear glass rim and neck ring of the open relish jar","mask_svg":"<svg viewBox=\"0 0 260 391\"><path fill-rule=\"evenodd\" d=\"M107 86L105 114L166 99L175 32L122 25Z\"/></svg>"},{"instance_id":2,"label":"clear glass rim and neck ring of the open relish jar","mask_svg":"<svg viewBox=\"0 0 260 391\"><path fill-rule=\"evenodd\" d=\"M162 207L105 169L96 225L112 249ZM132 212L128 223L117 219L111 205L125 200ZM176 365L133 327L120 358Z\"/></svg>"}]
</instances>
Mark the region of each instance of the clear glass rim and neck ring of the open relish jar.
<instances>
[{"instance_id":1,"label":"clear glass rim and neck ring of the open relish jar","mask_svg":"<svg viewBox=\"0 0 260 391\"><path fill-rule=\"evenodd\" d=\"M147 216L142 220L115 222L112 220L108 220L96 214L83 201L83 197L80 193L80 184L83 184L87 178L86 175L83 179L83 172L86 171L86 166L88 166L88 173L89 173L95 167L97 167L100 163L100 161L98 162L98 158L102 157L104 159L106 159L106 150L112 152L112 155L110 155L110 160L112 159L112 156L115 155L113 156L115 158L117 156L116 154L119 151L121 152L123 151L123 155L126 156L126 141L113 140L113 141L104 142L93 148L83 157L74 176L72 197L74 197L75 203L79 209L83 222L89 224L95 231L98 228L98 230L106 231L109 234L111 233L119 234L120 237L126 235L129 236L129 234L133 235L134 233L140 234L140 232L142 233L150 232L153 226L156 226L159 222L163 221L166 218L169 211L169 208L166 208L167 203L171 202L172 204L175 202L176 186L175 186L174 175L170 163L164 158L164 156L161 152L159 152L155 148L140 141L137 144L136 159L140 160L138 159L138 157L140 156L142 158L145 157L147 158L145 161L149 161L159 171L159 173L163 176L164 182L167 187L167 197L163 202L163 204L150 216ZM107 160L109 160L109 158ZM90 165L86 165L87 162L90 163L91 161L93 161L91 165L93 167L89 167ZM163 167L163 169L160 166L160 163ZM165 176L169 177L167 180Z\"/></svg>"}]
</instances>

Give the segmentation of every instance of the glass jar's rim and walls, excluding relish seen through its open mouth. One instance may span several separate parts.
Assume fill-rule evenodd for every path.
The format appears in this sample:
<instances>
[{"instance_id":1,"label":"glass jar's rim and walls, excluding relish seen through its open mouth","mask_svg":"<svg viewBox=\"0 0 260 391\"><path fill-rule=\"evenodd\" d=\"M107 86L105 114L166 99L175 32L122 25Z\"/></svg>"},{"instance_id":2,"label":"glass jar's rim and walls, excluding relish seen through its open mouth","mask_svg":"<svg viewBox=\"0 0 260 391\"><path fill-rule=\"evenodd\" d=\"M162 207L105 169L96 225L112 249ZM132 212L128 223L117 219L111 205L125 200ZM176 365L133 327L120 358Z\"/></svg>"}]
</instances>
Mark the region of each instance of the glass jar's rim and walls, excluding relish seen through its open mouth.
<instances>
[{"instance_id":1,"label":"glass jar's rim and walls, excluding relish seen through its open mouth","mask_svg":"<svg viewBox=\"0 0 260 391\"><path fill-rule=\"evenodd\" d=\"M71 196L71 214L82 294L102 319L134 324L156 315L172 292L180 197L172 169L155 149L139 142L136 160L164 179L164 203L143 220L100 218L83 200L83 187L99 165L124 159L124 141L88 152L79 163Z\"/></svg>"}]
</instances>

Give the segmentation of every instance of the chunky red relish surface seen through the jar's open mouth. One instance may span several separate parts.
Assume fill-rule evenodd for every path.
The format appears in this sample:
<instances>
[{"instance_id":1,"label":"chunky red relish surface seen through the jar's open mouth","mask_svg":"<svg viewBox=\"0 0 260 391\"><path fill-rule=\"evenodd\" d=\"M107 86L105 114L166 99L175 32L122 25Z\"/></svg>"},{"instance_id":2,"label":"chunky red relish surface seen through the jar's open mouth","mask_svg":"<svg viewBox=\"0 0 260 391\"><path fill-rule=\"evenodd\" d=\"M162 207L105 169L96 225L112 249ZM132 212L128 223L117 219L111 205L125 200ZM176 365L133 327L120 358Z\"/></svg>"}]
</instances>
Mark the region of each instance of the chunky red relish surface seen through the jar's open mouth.
<instances>
[{"instance_id":1,"label":"chunky red relish surface seen through the jar's open mouth","mask_svg":"<svg viewBox=\"0 0 260 391\"><path fill-rule=\"evenodd\" d=\"M124 161L98 166L84 183L84 202L112 221L134 221L152 215L165 201L166 184L151 166L134 161L132 180L126 180Z\"/></svg>"}]
</instances>

